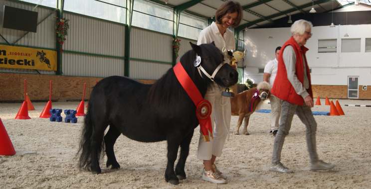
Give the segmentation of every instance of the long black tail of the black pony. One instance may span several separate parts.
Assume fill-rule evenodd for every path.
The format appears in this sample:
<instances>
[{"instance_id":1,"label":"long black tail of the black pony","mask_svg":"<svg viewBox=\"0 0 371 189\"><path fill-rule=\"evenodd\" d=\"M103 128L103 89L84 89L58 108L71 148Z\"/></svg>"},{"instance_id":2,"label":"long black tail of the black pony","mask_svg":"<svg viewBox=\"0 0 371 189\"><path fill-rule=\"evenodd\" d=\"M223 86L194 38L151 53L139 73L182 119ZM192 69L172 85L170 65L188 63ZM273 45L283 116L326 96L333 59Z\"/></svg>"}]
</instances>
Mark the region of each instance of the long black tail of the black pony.
<instances>
[{"instance_id":1,"label":"long black tail of the black pony","mask_svg":"<svg viewBox=\"0 0 371 189\"><path fill-rule=\"evenodd\" d=\"M88 106L88 111L85 115L84 119L84 126L82 128L81 132L81 139L80 139L80 147L79 151L77 152L77 156L80 154L80 159L79 159L79 168L80 169L87 169L90 171L90 166L91 166L91 153L92 153L92 148L91 148L91 136L93 135L93 122L91 120L91 104L89 103ZM101 142L99 143L98 146L98 161L101 157L101 153L104 150L104 140L103 136L101 139Z\"/></svg>"}]
</instances>

